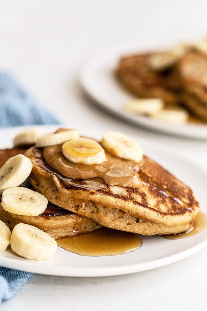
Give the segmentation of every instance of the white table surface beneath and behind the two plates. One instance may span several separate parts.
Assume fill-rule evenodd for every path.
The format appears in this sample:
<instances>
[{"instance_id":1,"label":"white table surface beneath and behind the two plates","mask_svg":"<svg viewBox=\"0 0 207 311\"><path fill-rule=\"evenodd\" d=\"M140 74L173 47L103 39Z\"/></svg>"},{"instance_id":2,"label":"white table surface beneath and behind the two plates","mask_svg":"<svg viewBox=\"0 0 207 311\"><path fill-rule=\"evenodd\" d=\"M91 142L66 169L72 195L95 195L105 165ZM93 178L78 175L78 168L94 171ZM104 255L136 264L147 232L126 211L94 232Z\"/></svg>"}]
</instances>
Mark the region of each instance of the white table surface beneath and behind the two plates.
<instances>
[{"instance_id":1,"label":"white table surface beneath and behind the two plates","mask_svg":"<svg viewBox=\"0 0 207 311\"><path fill-rule=\"evenodd\" d=\"M71 127L141 135L207 169L207 143L147 132L109 116L80 91L81 64L103 49L170 44L207 33L206 1L0 1L0 69L10 70ZM202 181L201 181L202 182ZM206 310L207 248L180 262L125 276L34 275L7 310Z\"/></svg>"}]
</instances>

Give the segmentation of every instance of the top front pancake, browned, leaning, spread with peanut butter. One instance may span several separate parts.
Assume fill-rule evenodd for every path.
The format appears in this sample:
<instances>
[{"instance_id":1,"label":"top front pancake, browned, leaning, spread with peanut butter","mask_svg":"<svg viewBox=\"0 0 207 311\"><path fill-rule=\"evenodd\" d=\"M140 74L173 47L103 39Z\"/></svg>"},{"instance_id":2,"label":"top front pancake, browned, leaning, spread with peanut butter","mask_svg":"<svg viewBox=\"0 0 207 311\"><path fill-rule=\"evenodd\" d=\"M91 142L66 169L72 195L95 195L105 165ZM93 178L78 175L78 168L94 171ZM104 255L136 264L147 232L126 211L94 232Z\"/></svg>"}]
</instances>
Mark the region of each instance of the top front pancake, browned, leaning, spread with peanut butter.
<instances>
[{"instance_id":1,"label":"top front pancake, browned, leaning, spread with peanut butter","mask_svg":"<svg viewBox=\"0 0 207 311\"><path fill-rule=\"evenodd\" d=\"M139 164L142 186L108 186L101 178L65 178L49 167L43 149L25 153L33 169L28 180L50 202L106 227L144 235L188 230L199 211L191 189L144 156Z\"/></svg>"}]
</instances>

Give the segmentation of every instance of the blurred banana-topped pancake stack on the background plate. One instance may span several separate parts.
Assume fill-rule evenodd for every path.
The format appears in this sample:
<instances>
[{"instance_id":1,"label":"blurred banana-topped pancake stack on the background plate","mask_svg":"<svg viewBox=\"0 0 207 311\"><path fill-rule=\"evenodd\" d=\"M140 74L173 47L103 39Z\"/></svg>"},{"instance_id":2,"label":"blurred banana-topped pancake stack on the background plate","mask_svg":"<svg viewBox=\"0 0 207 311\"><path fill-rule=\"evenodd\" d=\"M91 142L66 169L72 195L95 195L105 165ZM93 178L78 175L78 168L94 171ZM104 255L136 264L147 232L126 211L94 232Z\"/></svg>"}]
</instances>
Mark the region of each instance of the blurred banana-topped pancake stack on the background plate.
<instances>
[{"instance_id":1,"label":"blurred banana-topped pancake stack on the background plate","mask_svg":"<svg viewBox=\"0 0 207 311\"><path fill-rule=\"evenodd\" d=\"M169 51L122 57L122 86L141 98L160 98L166 108L182 105L207 122L207 43L182 44Z\"/></svg>"}]
</instances>

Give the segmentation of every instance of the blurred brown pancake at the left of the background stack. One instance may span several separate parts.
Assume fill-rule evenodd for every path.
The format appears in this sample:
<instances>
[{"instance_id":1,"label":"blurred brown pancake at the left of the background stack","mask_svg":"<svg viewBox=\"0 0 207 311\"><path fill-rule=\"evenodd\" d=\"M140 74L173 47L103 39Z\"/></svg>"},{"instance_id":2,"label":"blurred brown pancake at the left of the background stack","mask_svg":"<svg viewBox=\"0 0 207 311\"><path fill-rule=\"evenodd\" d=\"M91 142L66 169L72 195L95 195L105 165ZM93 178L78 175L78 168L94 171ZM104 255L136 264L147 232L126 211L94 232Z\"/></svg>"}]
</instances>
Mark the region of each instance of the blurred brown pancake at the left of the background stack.
<instances>
[{"instance_id":1,"label":"blurred brown pancake at the left of the background stack","mask_svg":"<svg viewBox=\"0 0 207 311\"><path fill-rule=\"evenodd\" d=\"M134 95L145 98L162 98L168 104L177 104L180 88L176 69L154 72L149 67L152 53L129 55L119 60L117 77Z\"/></svg>"}]
</instances>

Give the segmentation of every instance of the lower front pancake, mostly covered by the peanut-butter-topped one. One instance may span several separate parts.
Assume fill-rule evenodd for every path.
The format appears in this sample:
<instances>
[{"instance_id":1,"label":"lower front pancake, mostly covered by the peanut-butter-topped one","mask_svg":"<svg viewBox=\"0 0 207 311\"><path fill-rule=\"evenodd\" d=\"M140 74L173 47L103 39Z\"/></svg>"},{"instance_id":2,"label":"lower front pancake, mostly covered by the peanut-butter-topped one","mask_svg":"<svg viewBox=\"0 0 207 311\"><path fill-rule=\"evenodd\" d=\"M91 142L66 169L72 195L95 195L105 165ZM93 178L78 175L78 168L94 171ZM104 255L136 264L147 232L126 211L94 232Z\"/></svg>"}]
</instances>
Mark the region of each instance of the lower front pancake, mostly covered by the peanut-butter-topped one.
<instances>
[{"instance_id":1,"label":"lower front pancake, mostly covered by the peanut-butter-topped one","mask_svg":"<svg viewBox=\"0 0 207 311\"><path fill-rule=\"evenodd\" d=\"M0 167L11 157L19 153L24 154L25 148L12 148L0 150ZM21 186L31 188L27 183ZM73 212L55 206L48 202L46 210L39 216L22 216L5 211L0 204L0 220L13 230L14 226L19 223L33 225L54 239L61 239L69 236L76 236L92 232L101 228L95 220L88 217L79 216Z\"/></svg>"}]
</instances>

